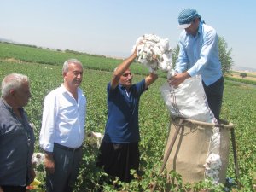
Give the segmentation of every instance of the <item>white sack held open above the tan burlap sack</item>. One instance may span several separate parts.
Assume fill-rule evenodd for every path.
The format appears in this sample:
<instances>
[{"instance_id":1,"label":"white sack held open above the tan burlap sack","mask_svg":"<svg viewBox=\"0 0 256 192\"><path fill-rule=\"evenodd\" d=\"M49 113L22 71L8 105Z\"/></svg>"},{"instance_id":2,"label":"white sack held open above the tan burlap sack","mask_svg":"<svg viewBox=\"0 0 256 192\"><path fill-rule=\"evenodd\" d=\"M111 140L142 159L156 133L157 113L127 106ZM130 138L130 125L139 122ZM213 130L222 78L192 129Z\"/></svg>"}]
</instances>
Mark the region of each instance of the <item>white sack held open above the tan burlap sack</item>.
<instances>
[{"instance_id":1,"label":"white sack held open above the tan burlap sack","mask_svg":"<svg viewBox=\"0 0 256 192\"><path fill-rule=\"evenodd\" d=\"M186 79L177 88L166 83L160 91L171 115L207 123L216 122L208 106L200 75Z\"/></svg>"}]
</instances>

